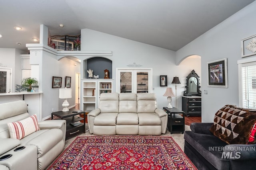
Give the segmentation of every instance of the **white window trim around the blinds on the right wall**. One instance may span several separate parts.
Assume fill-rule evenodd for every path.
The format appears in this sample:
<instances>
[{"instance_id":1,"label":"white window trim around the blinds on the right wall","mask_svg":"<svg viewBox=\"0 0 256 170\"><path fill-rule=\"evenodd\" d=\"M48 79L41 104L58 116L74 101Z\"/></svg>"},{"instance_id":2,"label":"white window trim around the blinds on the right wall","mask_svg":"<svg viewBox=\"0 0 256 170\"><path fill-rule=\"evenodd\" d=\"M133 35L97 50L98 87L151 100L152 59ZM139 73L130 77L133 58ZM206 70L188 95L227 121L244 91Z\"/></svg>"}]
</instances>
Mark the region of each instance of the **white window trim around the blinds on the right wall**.
<instances>
[{"instance_id":1,"label":"white window trim around the blinds on the right wall","mask_svg":"<svg viewBox=\"0 0 256 170\"><path fill-rule=\"evenodd\" d=\"M256 57L238 60L238 93L239 93L239 107L243 107L243 90L242 90L242 67L256 65Z\"/></svg>"}]
</instances>

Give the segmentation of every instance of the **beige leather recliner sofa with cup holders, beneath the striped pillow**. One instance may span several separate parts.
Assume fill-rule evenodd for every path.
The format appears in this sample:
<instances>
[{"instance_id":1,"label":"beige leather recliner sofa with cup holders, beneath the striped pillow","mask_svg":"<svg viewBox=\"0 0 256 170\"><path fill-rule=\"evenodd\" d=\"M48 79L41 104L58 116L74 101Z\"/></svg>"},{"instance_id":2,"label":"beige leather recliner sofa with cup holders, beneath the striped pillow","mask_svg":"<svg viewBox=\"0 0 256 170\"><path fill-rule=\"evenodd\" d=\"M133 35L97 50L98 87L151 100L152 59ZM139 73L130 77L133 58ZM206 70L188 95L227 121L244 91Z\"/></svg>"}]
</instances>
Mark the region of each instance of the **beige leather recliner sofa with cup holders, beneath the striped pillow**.
<instances>
[{"instance_id":1,"label":"beige leather recliner sofa with cup holders, beneath the striped pillow","mask_svg":"<svg viewBox=\"0 0 256 170\"><path fill-rule=\"evenodd\" d=\"M20 140L11 139L7 123L29 117L24 101L0 104L0 170L43 170L62 152L66 137L65 120L38 122L36 131ZM24 146L19 151L15 149ZM10 158L5 158L11 154Z\"/></svg>"}]
</instances>

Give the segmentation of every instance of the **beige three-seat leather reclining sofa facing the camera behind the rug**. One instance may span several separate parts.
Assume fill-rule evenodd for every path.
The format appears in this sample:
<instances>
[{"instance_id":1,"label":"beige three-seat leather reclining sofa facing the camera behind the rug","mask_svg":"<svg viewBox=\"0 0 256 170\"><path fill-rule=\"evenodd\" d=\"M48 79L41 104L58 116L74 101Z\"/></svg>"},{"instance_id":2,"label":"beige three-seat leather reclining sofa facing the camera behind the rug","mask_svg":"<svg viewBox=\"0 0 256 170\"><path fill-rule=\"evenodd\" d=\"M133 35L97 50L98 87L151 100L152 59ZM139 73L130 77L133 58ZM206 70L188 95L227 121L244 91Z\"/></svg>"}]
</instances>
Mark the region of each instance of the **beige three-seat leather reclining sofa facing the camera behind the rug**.
<instances>
[{"instance_id":1,"label":"beige three-seat leather reclining sofa facing the camera behind the rug","mask_svg":"<svg viewBox=\"0 0 256 170\"><path fill-rule=\"evenodd\" d=\"M99 108L87 116L94 135L161 135L168 121L153 93L102 93Z\"/></svg>"}]
</instances>

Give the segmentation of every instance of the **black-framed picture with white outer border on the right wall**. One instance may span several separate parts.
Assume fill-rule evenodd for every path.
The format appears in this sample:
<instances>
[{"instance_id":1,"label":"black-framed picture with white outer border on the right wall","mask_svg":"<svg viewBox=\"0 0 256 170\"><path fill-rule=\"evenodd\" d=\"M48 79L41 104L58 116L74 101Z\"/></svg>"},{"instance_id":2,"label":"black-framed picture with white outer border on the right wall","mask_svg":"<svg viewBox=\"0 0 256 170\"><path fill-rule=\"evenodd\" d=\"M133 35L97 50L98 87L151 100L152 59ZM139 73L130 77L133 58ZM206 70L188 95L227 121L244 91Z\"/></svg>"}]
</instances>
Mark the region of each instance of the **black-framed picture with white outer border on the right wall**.
<instances>
[{"instance_id":1,"label":"black-framed picture with white outer border on the right wall","mask_svg":"<svg viewBox=\"0 0 256 170\"><path fill-rule=\"evenodd\" d=\"M228 88L227 59L220 59L207 63L208 87Z\"/></svg>"}]
</instances>

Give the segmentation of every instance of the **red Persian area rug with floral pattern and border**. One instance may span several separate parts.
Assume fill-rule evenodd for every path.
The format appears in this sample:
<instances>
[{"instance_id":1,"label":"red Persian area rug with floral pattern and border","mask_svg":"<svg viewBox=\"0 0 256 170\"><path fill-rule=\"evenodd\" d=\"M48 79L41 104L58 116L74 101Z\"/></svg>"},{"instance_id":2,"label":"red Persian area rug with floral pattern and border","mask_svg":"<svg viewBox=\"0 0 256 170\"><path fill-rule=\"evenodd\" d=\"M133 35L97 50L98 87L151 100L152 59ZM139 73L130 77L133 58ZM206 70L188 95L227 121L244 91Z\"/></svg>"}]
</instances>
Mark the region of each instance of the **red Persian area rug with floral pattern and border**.
<instances>
[{"instance_id":1,"label":"red Persian area rug with floral pattern and border","mask_svg":"<svg viewBox=\"0 0 256 170\"><path fill-rule=\"evenodd\" d=\"M172 137L76 137L48 170L196 170Z\"/></svg>"}]
</instances>

